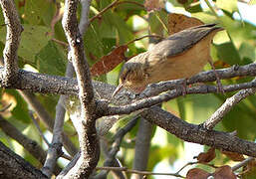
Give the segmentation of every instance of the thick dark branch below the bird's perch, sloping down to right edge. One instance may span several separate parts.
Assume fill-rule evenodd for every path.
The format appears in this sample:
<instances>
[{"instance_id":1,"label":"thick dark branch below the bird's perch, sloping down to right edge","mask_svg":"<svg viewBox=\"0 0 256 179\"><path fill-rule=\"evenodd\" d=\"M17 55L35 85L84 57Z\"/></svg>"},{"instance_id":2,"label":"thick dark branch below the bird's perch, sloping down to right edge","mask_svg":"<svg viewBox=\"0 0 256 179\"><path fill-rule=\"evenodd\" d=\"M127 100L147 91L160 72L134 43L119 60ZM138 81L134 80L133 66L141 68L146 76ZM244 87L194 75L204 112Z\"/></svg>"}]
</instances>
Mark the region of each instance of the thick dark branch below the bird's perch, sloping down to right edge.
<instances>
[{"instance_id":1,"label":"thick dark branch below the bird's perch, sloping down to right edge","mask_svg":"<svg viewBox=\"0 0 256 179\"><path fill-rule=\"evenodd\" d=\"M146 109L141 113L141 116L182 140L256 156L256 143L240 139L227 132L207 130L200 125L187 123L159 107Z\"/></svg>"}]
</instances>

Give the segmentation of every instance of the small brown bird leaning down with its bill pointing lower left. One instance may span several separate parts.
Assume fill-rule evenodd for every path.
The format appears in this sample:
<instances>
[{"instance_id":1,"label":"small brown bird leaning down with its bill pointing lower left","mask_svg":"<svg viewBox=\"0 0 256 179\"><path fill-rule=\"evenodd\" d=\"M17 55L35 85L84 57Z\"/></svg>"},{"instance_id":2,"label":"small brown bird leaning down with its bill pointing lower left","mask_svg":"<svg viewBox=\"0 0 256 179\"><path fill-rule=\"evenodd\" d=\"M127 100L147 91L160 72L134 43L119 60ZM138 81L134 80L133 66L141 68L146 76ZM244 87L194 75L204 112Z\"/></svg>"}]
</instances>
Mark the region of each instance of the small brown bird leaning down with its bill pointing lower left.
<instances>
[{"instance_id":1,"label":"small brown bird leaning down with its bill pointing lower left","mask_svg":"<svg viewBox=\"0 0 256 179\"><path fill-rule=\"evenodd\" d=\"M188 79L198 74L211 61L212 39L222 30L216 24L185 29L131 58L123 66L120 85L113 96L123 88L140 92L148 84Z\"/></svg>"}]
</instances>

